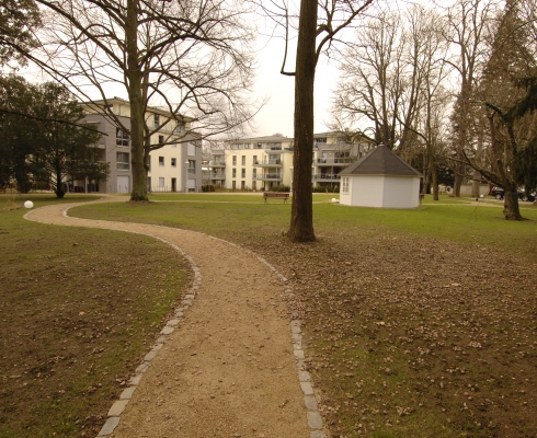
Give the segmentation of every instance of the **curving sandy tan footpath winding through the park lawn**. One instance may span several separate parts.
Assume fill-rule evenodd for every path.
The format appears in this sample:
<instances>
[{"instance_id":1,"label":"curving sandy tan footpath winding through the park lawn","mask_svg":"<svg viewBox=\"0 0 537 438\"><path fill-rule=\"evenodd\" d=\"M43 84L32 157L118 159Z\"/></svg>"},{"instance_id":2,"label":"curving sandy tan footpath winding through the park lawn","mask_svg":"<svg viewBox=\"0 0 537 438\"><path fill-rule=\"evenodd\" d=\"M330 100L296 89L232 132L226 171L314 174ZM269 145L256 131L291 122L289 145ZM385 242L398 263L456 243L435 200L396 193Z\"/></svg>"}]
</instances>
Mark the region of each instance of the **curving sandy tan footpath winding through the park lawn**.
<instances>
[{"instance_id":1,"label":"curving sandy tan footpath winding through the park lawn","mask_svg":"<svg viewBox=\"0 0 537 438\"><path fill-rule=\"evenodd\" d=\"M125 198L100 201L112 200ZM285 277L255 254L198 232L68 217L77 205L42 207L25 218L151 235L186 256L194 272L100 437L325 437L304 370L300 321L289 324Z\"/></svg>"}]
</instances>

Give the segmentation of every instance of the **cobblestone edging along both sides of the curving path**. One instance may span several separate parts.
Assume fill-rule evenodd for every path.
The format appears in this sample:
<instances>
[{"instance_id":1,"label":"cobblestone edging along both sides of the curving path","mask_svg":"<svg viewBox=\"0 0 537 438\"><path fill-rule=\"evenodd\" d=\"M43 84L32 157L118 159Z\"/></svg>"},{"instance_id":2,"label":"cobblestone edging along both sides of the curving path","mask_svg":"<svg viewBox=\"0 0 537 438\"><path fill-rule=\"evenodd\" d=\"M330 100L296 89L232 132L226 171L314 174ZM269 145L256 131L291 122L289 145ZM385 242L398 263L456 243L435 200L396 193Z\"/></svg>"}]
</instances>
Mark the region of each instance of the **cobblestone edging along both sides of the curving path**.
<instances>
[{"instance_id":1,"label":"cobblestone edging along both sides of the curving path","mask_svg":"<svg viewBox=\"0 0 537 438\"><path fill-rule=\"evenodd\" d=\"M110 199L103 199L104 201L110 200ZM100 200L100 201L103 201ZM71 218L68 216L67 211L75 206L70 206L66 209L62 210L62 216L65 218ZM31 221L39 221L35 219L31 219L28 217L30 214L24 215L24 219L31 220ZM73 217L73 219L76 219ZM87 220L84 220L87 221ZM39 221L41 222L41 221ZM102 221L102 220L94 220L94 222L100 222L101 224L111 222L114 223L115 226L121 224L122 222L112 222L112 221ZM169 227L163 227L163 226L147 226L147 227L155 227L155 228L161 228L161 229L170 229ZM100 228L105 228L105 227L100 227ZM110 228L113 230L117 230L117 228ZM173 230L173 229L172 229ZM149 368L149 365L151 364L152 359L157 357L158 351L163 347L164 343L167 342L168 337L174 332L174 330L178 327L181 319L184 315L184 312L187 311L187 309L193 306L196 291L199 288L202 284L202 273L199 268L197 267L196 263L194 260L182 249L180 249L178 245L167 241L165 239L162 239L157 235L152 235L151 233L147 232L138 232L138 231L133 231L133 230L123 230L125 232L130 232L134 234L142 234L142 235L148 235L153 239L157 239L168 245L170 245L173 250L175 250L178 253L180 253L183 257L185 257L190 265L191 268L194 273L194 280L192 283L192 286L190 287L187 293L184 295L184 297L181 300L181 304L179 308L176 308L173 312L173 315L170 318L169 321L167 321L165 325L163 328L160 331L160 337L155 342L155 345L150 348L149 353L144 357L141 364L136 368L134 371L133 376L130 377L130 380L127 382L128 388L126 388L122 394L119 395L119 400L117 400L112 407L110 408L107 413L107 419L102 427L101 431L99 433L98 437L107 437L113 434L114 429L117 427L121 420L121 415L126 408L128 402L130 401L134 392L137 389L137 385L139 384L144 373L147 371ZM183 230L184 231L184 230ZM235 246L239 249L240 251L243 251L245 253L251 254L253 257L255 257L260 263L264 264L267 266L275 275L276 277L285 285L285 292L288 296L293 295L293 290L287 286L287 278L281 274L273 265L271 265L263 257L259 256L254 252L247 250L236 243L226 241L224 239L219 238L214 238L197 231L188 231L190 233L198 233L202 235L205 235L209 239L222 242L225 244ZM302 334L301 334L301 322L298 319L298 314L294 312L292 314L292 320L290 320L290 334L292 334L292 343L294 347L294 355L296 359L296 366L297 366L297 371L298 371L298 381L300 384L300 389L304 393L304 403L307 410L307 420L308 420L308 426L310 427L310 438L327 438L325 434L322 431L323 429L323 424L322 424L322 418L318 410L317 405L317 399L315 395L315 390L311 384L311 377L308 371L306 371L306 365L305 365L305 353L302 348Z\"/></svg>"}]
</instances>

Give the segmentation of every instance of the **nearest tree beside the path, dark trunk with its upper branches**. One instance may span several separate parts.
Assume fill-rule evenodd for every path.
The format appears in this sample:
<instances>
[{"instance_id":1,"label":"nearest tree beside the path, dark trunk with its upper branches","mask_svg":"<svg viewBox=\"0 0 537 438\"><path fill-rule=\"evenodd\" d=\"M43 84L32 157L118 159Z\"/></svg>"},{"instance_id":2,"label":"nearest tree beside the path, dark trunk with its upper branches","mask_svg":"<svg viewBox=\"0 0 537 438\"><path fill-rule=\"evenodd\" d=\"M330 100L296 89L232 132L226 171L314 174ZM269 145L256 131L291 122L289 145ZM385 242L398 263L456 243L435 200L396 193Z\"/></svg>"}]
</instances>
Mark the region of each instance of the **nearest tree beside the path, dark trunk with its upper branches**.
<instances>
[{"instance_id":1,"label":"nearest tree beside the path, dark trunk with its upper branches","mask_svg":"<svg viewBox=\"0 0 537 438\"><path fill-rule=\"evenodd\" d=\"M373 0L300 0L295 71L285 71L289 28L289 8L271 1L263 5L268 16L283 23L286 32L282 74L295 77L295 153L293 158L293 206L287 237L293 242L311 242L313 209L311 164L313 159L313 84L316 68L322 54L330 54L338 37L351 28ZM272 9L271 9L272 8Z\"/></svg>"}]
</instances>

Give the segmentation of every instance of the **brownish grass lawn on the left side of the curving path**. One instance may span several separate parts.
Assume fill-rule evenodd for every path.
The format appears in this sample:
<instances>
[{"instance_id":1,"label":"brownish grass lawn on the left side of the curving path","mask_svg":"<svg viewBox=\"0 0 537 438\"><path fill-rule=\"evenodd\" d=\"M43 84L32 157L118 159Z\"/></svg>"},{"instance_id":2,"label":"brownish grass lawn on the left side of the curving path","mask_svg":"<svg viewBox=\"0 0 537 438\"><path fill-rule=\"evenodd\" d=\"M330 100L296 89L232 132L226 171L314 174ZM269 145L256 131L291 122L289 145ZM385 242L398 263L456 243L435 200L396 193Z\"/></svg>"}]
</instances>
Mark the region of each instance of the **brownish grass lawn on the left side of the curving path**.
<instances>
[{"instance_id":1,"label":"brownish grass lawn on the left side of the curving path","mask_svg":"<svg viewBox=\"0 0 537 438\"><path fill-rule=\"evenodd\" d=\"M0 437L94 437L190 266L149 238L26 221L26 199L92 197L0 197Z\"/></svg>"}]
</instances>

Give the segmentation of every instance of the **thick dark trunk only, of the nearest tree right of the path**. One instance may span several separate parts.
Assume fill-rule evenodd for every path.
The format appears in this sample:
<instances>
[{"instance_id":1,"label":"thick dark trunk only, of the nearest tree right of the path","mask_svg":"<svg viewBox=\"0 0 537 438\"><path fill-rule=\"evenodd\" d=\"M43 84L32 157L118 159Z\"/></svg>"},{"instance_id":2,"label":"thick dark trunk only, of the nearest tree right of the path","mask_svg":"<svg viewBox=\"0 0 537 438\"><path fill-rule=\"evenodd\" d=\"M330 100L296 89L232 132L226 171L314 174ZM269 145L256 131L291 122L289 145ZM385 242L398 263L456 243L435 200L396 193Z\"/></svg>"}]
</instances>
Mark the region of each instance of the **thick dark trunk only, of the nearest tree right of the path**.
<instances>
[{"instance_id":1,"label":"thick dark trunk only, of the nearest tree right of the path","mask_svg":"<svg viewBox=\"0 0 537 438\"><path fill-rule=\"evenodd\" d=\"M313 82L316 76L317 0L300 1L298 48L295 69L295 154L293 206L287 237L293 242L312 242L313 208Z\"/></svg>"}]
</instances>

